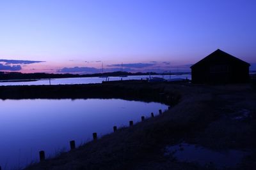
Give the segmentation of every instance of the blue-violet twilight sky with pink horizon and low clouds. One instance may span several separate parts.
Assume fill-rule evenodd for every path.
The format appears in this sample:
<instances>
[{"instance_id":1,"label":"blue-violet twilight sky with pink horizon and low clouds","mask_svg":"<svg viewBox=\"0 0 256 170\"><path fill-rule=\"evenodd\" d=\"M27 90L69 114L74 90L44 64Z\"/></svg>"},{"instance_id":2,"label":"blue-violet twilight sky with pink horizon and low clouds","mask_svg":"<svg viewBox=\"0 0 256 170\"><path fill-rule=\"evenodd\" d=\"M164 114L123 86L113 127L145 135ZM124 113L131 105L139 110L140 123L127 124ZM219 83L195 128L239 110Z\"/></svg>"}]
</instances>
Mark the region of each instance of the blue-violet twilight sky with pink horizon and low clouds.
<instances>
[{"instance_id":1,"label":"blue-violet twilight sky with pink horizon and low clouds","mask_svg":"<svg viewBox=\"0 0 256 170\"><path fill-rule=\"evenodd\" d=\"M255 9L249 0L0 0L0 71L189 71L217 48L253 64Z\"/></svg>"}]
</instances>

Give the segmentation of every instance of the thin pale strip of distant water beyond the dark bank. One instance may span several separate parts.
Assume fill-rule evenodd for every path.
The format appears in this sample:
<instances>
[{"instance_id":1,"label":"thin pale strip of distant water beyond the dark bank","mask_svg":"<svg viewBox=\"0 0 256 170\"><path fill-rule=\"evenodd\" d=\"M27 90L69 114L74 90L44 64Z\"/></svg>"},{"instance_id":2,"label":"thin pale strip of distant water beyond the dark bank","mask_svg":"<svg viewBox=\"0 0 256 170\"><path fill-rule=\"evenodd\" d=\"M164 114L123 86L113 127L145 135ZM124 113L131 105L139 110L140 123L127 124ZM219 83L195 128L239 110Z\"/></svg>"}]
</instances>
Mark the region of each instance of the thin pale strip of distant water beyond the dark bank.
<instances>
[{"instance_id":1,"label":"thin pale strip of distant water beyond the dark bank","mask_svg":"<svg viewBox=\"0 0 256 170\"><path fill-rule=\"evenodd\" d=\"M161 77L161 75L152 75L154 77ZM122 77L122 80L147 80L148 76L127 76ZM182 75L164 75L166 80L173 78L188 78L191 80L191 74L182 74ZM113 77L109 76L109 81L121 80L121 77ZM83 77L83 78L54 78L51 79L51 85L71 85L71 84L88 84L88 83L102 83L102 81L106 81L106 78L99 77ZM49 79L46 80L37 80L37 81L20 81L20 82L0 82L0 85L49 85Z\"/></svg>"}]
</instances>

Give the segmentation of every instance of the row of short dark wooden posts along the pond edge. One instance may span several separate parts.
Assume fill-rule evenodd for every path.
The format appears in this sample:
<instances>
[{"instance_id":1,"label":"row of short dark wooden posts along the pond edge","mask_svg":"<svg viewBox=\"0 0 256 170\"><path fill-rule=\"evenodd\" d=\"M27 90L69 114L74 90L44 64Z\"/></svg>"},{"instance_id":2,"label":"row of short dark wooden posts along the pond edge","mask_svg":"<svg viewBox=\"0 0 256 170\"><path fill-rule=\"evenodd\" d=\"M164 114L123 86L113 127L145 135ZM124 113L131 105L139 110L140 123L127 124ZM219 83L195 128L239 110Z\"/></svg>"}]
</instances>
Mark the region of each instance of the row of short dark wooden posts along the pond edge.
<instances>
[{"instance_id":1,"label":"row of short dark wooden posts along the pond edge","mask_svg":"<svg viewBox=\"0 0 256 170\"><path fill-rule=\"evenodd\" d=\"M168 110L170 110L170 106L168 107ZM159 110L159 115L162 115L162 110ZM151 113L151 117L154 117L154 113ZM141 117L141 122L143 122L145 120L145 117ZM130 126L132 126L133 125L133 121L132 120L130 120L129 121L129 125ZM113 131L114 132L116 132L117 131L117 127L116 126L114 126L113 127ZM96 132L94 132L93 134L92 134L92 136L93 136L93 141L97 141L97 133ZM70 150L74 150L75 148L76 148L76 142L73 140L73 141L70 141L69 142L69 144L70 144ZM39 158L40 158L40 161L43 161L43 160L45 160L45 152L44 152L44 150L41 150L40 152L39 152ZM0 170L1 170L1 166L0 166Z\"/></svg>"}]
</instances>

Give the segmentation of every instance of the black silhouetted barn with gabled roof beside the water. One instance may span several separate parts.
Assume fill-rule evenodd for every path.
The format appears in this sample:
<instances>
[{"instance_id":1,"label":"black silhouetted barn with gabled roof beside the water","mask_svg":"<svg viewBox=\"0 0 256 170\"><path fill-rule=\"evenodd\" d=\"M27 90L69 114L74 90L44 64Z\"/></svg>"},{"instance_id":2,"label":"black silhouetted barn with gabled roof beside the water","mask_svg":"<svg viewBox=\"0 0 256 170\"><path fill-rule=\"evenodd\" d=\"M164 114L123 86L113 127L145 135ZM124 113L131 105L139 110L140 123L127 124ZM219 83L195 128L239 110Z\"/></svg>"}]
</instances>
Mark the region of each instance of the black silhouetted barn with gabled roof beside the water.
<instances>
[{"instance_id":1,"label":"black silhouetted barn with gabled roof beside the water","mask_svg":"<svg viewBox=\"0 0 256 170\"><path fill-rule=\"evenodd\" d=\"M192 83L246 83L250 64L216 50L191 66Z\"/></svg>"}]
</instances>

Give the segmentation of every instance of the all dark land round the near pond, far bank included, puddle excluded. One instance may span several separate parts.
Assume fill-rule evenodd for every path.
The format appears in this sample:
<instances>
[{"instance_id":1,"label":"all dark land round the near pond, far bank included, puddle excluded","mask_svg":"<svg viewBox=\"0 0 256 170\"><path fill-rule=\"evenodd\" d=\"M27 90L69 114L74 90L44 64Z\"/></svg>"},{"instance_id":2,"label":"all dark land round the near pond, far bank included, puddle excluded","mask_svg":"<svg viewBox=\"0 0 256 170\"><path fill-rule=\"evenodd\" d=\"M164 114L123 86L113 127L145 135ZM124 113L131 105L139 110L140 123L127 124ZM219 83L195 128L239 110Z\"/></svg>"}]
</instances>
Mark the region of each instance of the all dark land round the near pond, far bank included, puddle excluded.
<instances>
[{"instance_id":1,"label":"all dark land round the near pond, far bank included, puddle excluded","mask_svg":"<svg viewBox=\"0 0 256 170\"><path fill-rule=\"evenodd\" d=\"M118 129L98 141L86 143L76 150L26 169L214 169L214 165L179 162L172 155L164 156L167 145L181 142L194 143L218 152L250 150L248 157L234 169L256 167L256 92L249 84L207 86L131 81L102 85L1 88L2 99L21 99L22 96L56 99L70 98L68 95L71 98L112 96L161 101L173 106L159 117ZM4 90L9 90L12 95ZM243 117L244 110L248 112L246 117Z\"/></svg>"}]
</instances>

